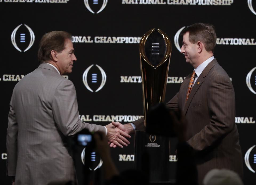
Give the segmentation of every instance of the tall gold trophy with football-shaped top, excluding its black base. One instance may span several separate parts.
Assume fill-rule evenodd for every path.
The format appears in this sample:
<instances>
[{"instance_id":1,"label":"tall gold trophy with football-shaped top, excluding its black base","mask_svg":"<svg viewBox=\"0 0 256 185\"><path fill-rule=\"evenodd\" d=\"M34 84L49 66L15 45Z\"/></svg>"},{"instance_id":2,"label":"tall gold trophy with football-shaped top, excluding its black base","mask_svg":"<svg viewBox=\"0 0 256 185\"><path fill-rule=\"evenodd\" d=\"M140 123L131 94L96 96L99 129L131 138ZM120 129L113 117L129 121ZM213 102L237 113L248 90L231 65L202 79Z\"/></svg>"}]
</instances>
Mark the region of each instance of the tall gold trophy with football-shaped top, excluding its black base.
<instances>
[{"instance_id":1,"label":"tall gold trophy with football-shaped top, excluding its black base","mask_svg":"<svg viewBox=\"0 0 256 185\"><path fill-rule=\"evenodd\" d=\"M171 42L160 29L149 30L139 43L141 62L144 125L152 106L164 102L171 56Z\"/></svg>"}]
</instances>

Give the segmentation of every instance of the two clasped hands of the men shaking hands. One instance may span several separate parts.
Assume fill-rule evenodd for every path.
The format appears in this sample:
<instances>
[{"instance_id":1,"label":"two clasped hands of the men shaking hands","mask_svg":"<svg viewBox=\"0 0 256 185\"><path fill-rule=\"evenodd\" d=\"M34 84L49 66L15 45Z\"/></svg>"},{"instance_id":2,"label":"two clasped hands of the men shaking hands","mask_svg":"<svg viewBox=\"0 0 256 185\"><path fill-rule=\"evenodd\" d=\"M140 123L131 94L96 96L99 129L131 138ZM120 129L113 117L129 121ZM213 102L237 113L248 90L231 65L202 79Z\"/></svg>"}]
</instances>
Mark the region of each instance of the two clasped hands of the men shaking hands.
<instances>
[{"instance_id":1,"label":"two clasped hands of the men shaking hands","mask_svg":"<svg viewBox=\"0 0 256 185\"><path fill-rule=\"evenodd\" d=\"M128 124L121 124L119 122L112 121L110 124L106 125L107 128L107 140L110 144L110 147L117 147L123 148L124 146L128 146L130 142L126 138L131 138L129 135L133 133L133 127L130 123Z\"/></svg>"}]
</instances>

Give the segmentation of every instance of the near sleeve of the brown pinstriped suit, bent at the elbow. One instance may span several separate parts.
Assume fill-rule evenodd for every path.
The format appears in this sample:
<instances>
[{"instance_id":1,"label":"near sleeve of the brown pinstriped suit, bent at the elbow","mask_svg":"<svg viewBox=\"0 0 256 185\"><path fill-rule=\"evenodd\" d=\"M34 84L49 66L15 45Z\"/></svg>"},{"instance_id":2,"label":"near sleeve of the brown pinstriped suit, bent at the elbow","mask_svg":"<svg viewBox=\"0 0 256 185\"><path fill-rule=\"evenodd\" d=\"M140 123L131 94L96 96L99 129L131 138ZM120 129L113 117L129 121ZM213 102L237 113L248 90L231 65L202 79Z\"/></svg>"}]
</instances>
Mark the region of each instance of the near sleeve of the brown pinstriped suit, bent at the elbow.
<instances>
[{"instance_id":1,"label":"near sleeve of the brown pinstriped suit, bent at the elbow","mask_svg":"<svg viewBox=\"0 0 256 185\"><path fill-rule=\"evenodd\" d=\"M207 89L210 123L188 140L201 151L225 137L235 126L235 93L227 76L214 76Z\"/></svg>"}]
</instances>

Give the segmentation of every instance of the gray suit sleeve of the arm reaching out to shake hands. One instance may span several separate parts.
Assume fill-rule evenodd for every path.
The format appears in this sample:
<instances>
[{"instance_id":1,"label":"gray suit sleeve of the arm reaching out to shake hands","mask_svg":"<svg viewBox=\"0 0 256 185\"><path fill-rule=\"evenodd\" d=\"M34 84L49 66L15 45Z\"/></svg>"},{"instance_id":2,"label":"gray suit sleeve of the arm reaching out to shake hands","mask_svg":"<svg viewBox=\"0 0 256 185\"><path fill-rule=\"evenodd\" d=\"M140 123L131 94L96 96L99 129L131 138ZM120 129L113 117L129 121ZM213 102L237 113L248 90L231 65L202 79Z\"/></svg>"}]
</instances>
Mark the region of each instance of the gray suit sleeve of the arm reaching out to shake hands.
<instances>
[{"instance_id":1,"label":"gray suit sleeve of the arm reaching out to shake hands","mask_svg":"<svg viewBox=\"0 0 256 185\"><path fill-rule=\"evenodd\" d=\"M62 81L55 91L53 116L65 136L74 135L82 129L88 129L90 132L106 131L104 126L85 123L79 119L76 91L70 80Z\"/></svg>"}]
</instances>

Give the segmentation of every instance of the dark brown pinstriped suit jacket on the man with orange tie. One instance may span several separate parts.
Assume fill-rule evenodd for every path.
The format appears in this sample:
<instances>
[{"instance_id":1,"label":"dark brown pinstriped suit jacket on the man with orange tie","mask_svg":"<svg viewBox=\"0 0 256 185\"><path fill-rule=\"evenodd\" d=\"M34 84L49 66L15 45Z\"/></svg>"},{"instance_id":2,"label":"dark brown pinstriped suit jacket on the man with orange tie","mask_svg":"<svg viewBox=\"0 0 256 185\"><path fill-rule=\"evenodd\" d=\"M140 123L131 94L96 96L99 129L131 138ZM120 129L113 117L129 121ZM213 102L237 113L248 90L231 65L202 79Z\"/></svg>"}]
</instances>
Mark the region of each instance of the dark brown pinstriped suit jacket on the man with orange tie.
<instances>
[{"instance_id":1,"label":"dark brown pinstriped suit jacket on the man with orange tie","mask_svg":"<svg viewBox=\"0 0 256 185\"><path fill-rule=\"evenodd\" d=\"M195 82L187 102L191 74L166 104L179 108L187 119L186 139L197 158L198 180L213 168L234 170L243 177L242 154L235 125L235 93L229 76L212 60ZM133 123L142 128L143 120Z\"/></svg>"}]
</instances>

